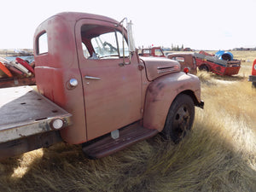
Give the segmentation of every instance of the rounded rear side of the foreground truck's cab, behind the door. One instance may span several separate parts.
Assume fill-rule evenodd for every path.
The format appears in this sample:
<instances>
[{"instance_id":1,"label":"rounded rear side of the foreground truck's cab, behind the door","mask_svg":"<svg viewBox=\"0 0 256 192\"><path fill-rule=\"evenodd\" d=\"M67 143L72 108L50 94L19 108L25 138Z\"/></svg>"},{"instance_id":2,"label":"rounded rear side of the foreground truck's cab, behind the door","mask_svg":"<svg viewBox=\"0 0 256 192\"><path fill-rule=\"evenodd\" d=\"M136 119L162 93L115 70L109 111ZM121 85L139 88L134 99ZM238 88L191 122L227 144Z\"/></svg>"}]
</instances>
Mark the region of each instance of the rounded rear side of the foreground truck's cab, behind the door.
<instances>
[{"instance_id":1,"label":"rounded rear side of the foreground truck's cab, behind the door","mask_svg":"<svg viewBox=\"0 0 256 192\"><path fill-rule=\"evenodd\" d=\"M80 17L91 16L65 13L52 16L38 26L34 35L35 73L38 91L73 114L73 125L61 130L61 137L72 144L86 141L84 96L79 71L74 26ZM38 54L38 37L46 32L48 52ZM76 87L69 80L76 79Z\"/></svg>"}]
</instances>

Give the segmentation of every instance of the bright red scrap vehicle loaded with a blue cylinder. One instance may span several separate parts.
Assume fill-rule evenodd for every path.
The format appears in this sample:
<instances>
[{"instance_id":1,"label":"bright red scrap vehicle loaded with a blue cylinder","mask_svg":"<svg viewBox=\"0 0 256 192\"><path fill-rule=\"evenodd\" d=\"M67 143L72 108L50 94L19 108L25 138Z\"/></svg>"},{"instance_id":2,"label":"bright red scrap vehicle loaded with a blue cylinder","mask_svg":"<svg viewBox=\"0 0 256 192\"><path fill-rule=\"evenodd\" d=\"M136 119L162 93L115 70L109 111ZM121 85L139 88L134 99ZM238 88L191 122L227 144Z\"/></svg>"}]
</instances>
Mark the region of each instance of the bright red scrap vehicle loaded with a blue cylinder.
<instances>
[{"instance_id":1,"label":"bright red scrap vehicle loaded with a blue cylinder","mask_svg":"<svg viewBox=\"0 0 256 192\"><path fill-rule=\"evenodd\" d=\"M238 74L241 67L241 61L233 59L233 55L225 51L218 51L215 55L200 51L195 53L195 60L199 70L222 76Z\"/></svg>"}]
</instances>

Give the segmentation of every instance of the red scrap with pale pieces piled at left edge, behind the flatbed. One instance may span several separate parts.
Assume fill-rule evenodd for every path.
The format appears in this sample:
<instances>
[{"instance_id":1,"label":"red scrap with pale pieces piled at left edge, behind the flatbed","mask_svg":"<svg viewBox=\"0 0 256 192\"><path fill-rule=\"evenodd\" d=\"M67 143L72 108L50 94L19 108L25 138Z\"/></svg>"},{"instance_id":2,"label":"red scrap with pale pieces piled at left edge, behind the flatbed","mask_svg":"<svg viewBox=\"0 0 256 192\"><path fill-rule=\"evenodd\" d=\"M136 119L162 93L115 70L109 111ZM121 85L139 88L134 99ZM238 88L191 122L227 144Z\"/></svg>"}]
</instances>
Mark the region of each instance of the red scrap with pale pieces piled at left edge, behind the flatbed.
<instances>
[{"instance_id":1,"label":"red scrap with pale pieces piled at left edge, behind the flatbed","mask_svg":"<svg viewBox=\"0 0 256 192\"><path fill-rule=\"evenodd\" d=\"M36 84L32 63L21 56L0 57L0 88Z\"/></svg>"}]
</instances>

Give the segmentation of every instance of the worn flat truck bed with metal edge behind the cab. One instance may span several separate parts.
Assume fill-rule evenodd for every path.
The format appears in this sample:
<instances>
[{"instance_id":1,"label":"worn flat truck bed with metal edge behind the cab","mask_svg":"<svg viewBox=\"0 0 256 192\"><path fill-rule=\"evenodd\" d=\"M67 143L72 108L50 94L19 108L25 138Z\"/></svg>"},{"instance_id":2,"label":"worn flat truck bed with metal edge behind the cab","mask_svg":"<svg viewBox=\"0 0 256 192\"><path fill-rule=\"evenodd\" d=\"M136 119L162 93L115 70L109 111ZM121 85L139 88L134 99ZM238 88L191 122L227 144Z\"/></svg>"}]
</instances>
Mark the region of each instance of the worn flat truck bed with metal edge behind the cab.
<instances>
[{"instance_id":1,"label":"worn flat truck bed with metal edge behind the cab","mask_svg":"<svg viewBox=\"0 0 256 192\"><path fill-rule=\"evenodd\" d=\"M53 119L70 125L71 114L29 86L0 89L0 143L53 131Z\"/></svg>"}]
</instances>

